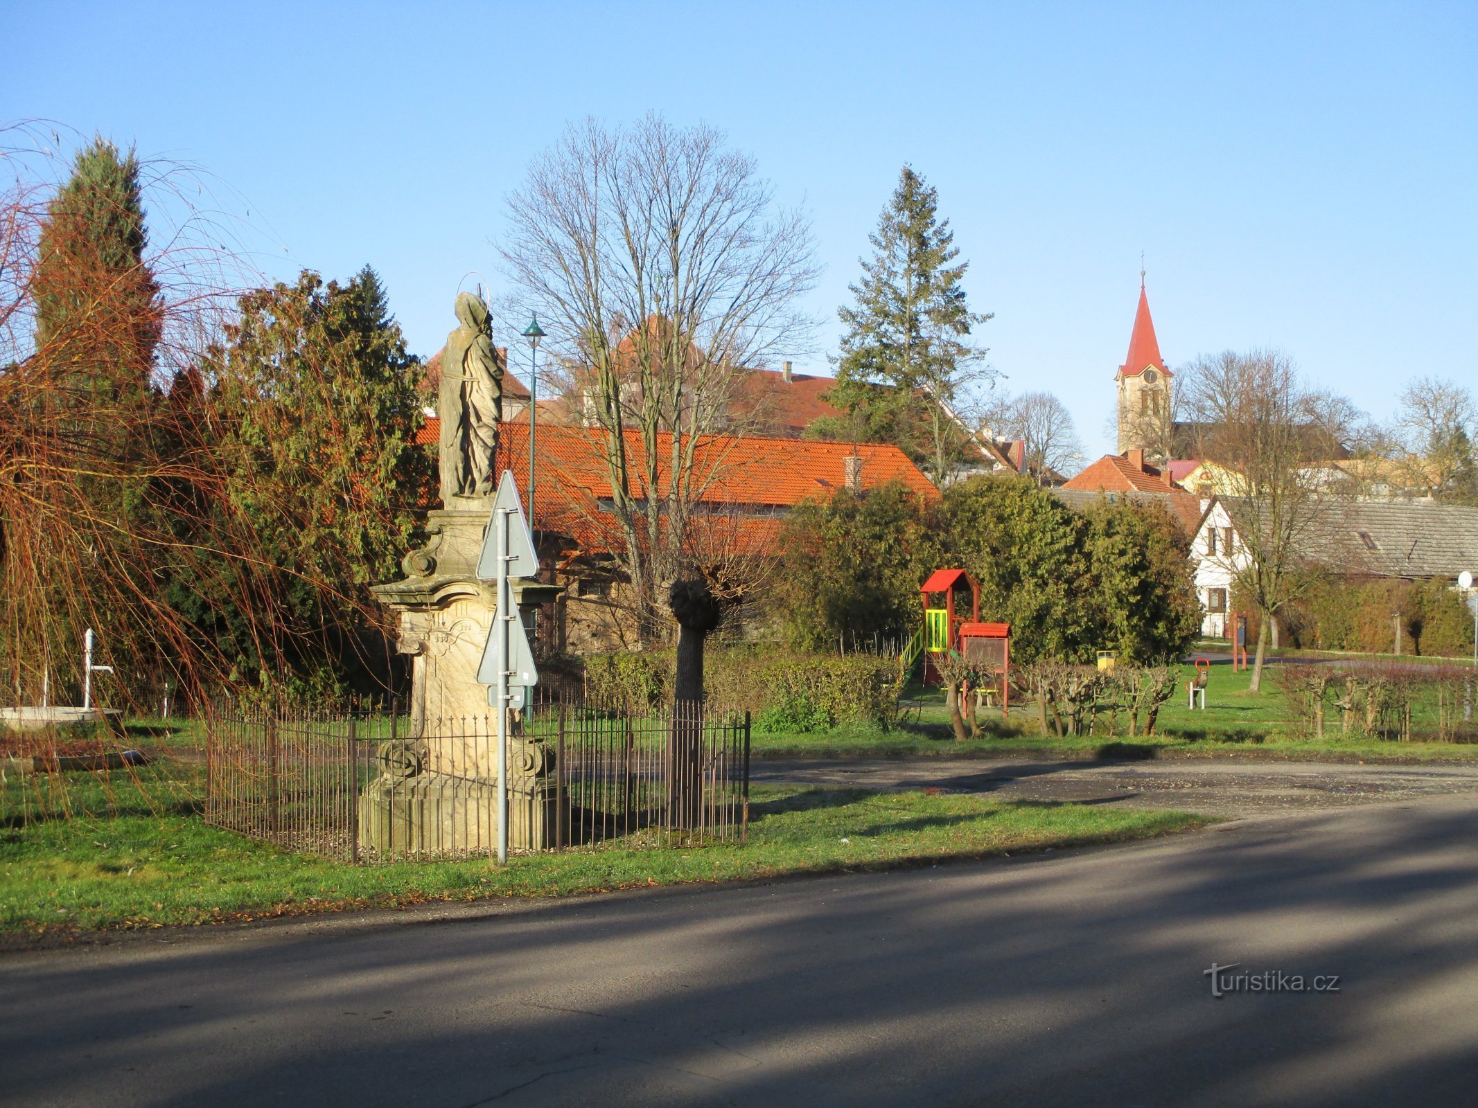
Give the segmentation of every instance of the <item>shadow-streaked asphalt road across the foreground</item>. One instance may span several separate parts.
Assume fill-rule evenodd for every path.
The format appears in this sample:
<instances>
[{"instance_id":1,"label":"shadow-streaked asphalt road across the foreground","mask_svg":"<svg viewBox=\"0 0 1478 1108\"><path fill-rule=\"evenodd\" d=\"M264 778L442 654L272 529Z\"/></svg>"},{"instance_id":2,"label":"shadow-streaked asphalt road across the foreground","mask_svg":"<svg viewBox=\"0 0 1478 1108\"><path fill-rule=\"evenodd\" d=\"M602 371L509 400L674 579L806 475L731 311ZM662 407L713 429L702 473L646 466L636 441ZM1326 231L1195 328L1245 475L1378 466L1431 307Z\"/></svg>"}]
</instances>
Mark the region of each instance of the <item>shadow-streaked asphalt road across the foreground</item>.
<instances>
[{"instance_id":1,"label":"shadow-streaked asphalt road across the foreground","mask_svg":"<svg viewBox=\"0 0 1478 1108\"><path fill-rule=\"evenodd\" d=\"M0 1102L1478 1104L1468 795L160 938L0 957Z\"/></svg>"}]
</instances>

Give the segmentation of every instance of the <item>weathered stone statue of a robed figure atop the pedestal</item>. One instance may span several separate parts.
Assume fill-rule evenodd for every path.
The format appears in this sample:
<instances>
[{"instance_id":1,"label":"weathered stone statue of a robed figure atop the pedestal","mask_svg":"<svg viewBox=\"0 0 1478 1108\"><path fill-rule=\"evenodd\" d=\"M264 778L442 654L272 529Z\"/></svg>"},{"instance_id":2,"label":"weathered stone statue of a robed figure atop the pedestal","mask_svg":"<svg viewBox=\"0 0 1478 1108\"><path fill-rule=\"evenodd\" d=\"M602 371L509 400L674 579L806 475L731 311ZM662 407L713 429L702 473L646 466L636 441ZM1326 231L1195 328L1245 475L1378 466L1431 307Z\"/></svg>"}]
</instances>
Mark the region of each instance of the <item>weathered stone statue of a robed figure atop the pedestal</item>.
<instances>
[{"instance_id":1,"label":"weathered stone statue of a robed figure atop the pedestal","mask_svg":"<svg viewBox=\"0 0 1478 1108\"><path fill-rule=\"evenodd\" d=\"M488 306L461 293L457 321L442 353L442 387L436 412L442 420L442 507L454 496L492 495L492 456L503 420L503 366L492 352Z\"/></svg>"}]
</instances>

